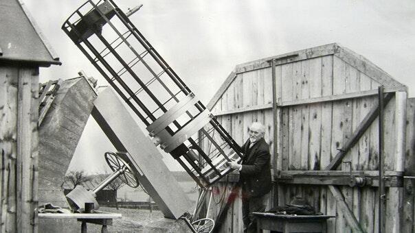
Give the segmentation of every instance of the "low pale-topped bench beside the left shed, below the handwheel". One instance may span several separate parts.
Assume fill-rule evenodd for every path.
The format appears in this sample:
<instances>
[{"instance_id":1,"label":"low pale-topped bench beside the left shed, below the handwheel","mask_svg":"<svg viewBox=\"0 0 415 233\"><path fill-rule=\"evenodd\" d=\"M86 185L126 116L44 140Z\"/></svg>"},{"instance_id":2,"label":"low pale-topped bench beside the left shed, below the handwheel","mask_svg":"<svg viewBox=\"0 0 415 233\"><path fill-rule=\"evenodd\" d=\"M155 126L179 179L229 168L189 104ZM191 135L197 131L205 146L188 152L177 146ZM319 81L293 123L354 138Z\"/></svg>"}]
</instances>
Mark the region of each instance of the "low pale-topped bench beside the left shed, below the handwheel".
<instances>
[{"instance_id":1,"label":"low pale-topped bench beside the left shed, below the handwheel","mask_svg":"<svg viewBox=\"0 0 415 233\"><path fill-rule=\"evenodd\" d=\"M93 214L55 214L55 213L38 213L38 217L42 219L78 219L81 223L80 232L87 233L87 223L102 225L101 233L107 233L107 225L113 225L113 219L120 219L121 214L95 211Z\"/></svg>"}]
</instances>

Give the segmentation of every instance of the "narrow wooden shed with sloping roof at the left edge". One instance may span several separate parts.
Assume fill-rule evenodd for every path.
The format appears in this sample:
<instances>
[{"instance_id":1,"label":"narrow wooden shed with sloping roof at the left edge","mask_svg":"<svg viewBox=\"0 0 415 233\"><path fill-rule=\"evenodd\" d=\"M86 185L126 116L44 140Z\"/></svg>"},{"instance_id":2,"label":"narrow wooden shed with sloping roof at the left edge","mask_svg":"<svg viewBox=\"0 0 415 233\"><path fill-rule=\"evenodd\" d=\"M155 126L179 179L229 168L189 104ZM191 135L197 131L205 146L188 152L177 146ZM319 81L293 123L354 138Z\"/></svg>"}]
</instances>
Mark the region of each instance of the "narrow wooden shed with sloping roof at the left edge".
<instances>
[{"instance_id":1,"label":"narrow wooden shed with sloping roof at the left edge","mask_svg":"<svg viewBox=\"0 0 415 233\"><path fill-rule=\"evenodd\" d=\"M0 22L0 232L37 232L38 68L60 62L21 1Z\"/></svg>"}]
</instances>

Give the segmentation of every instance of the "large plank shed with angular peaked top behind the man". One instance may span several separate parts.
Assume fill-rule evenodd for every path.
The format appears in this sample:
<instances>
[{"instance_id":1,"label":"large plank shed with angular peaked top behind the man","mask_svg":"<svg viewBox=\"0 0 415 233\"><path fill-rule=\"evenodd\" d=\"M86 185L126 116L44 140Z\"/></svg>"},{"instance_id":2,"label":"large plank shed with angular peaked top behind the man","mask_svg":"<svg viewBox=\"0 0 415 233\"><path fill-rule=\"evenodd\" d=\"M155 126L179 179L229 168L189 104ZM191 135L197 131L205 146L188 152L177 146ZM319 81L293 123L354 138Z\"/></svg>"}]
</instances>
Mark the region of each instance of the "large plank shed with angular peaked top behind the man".
<instances>
[{"instance_id":1,"label":"large plank shed with angular peaked top behind the man","mask_svg":"<svg viewBox=\"0 0 415 233\"><path fill-rule=\"evenodd\" d=\"M379 86L385 88L383 232L414 232L414 183L404 175L414 175L415 102L406 86L366 58L330 44L240 64L207 107L240 145L253 121L266 126L269 208L300 197L337 216L327 232L378 232ZM350 170L365 183L349 186ZM212 188L212 216L223 210L235 180ZM220 232L241 232L240 205L238 197L216 219Z\"/></svg>"}]
</instances>

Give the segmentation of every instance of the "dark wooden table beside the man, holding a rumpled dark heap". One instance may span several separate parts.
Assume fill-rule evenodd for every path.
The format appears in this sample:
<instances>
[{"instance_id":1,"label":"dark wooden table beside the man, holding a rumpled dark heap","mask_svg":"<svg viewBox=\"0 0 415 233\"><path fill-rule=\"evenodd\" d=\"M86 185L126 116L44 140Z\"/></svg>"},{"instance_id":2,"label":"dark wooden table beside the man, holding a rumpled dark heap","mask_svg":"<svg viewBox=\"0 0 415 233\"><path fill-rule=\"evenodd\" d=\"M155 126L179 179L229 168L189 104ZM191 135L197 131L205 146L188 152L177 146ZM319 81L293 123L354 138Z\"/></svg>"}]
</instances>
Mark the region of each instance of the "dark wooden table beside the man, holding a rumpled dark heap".
<instances>
[{"instance_id":1,"label":"dark wooden table beside the man, holding a rumpled dark heap","mask_svg":"<svg viewBox=\"0 0 415 233\"><path fill-rule=\"evenodd\" d=\"M289 215L267 212L253 212L257 219L257 231L271 230L282 233L289 232L322 232L326 233L326 221L335 216L330 215Z\"/></svg>"}]
</instances>

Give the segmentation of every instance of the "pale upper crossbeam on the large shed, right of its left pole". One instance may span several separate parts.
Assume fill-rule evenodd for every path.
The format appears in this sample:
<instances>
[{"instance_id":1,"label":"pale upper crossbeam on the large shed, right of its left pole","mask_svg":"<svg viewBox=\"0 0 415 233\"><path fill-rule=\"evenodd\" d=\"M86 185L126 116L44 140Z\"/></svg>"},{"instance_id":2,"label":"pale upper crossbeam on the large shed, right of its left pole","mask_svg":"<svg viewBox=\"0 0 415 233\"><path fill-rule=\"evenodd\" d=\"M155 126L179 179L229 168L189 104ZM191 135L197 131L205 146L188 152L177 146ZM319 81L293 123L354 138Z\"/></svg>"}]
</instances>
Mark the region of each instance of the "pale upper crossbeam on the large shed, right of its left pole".
<instances>
[{"instance_id":1,"label":"pale upper crossbeam on the large shed, right of its left pole","mask_svg":"<svg viewBox=\"0 0 415 233\"><path fill-rule=\"evenodd\" d=\"M394 93L396 91L401 91L402 89L385 89L385 93ZM328 101L339 101L344 99L354 99L354 98L363 98L368 96L374 96L377 95L377 89L376 90L364 90L364 91L358 91L355 93L346 93L346 94L340 94L340 95L329 95L324 97L315 97L315 98L309 98L309 99L296 99L293 101L282 101L282 103L278 103L279 107L287 107L287 106L296 106L301 104L310 104L310 103L322 103L322 102L328 102Z\"/></svg>"}]
</instances>

